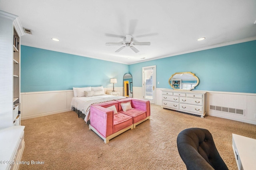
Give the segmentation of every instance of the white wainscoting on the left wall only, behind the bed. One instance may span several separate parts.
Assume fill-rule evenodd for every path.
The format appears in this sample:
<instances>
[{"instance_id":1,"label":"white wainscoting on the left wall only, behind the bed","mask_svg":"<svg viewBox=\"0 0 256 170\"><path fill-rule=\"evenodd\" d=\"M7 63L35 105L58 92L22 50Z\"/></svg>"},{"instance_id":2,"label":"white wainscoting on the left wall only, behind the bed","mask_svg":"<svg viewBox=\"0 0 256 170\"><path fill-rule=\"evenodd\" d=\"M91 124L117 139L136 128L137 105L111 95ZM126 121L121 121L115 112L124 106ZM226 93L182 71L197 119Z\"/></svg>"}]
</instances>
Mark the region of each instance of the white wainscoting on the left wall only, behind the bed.
<instances>
[{"instance_id":1,"label":"white wainscoting on the left wall only, behind the bed","mask_svg":"<svg viewBox=\"0 0 256 170\"><path fill-rule=\"evenodd\" d=\"M104 88L104 90L112 91L113 88ZM123 88L115 88L115 90L120 92L121 96L123 95ZM24 120L70 111L74 92L73 90L25 92L20 96L21 119Z\"/></svg>"}]
</instances>

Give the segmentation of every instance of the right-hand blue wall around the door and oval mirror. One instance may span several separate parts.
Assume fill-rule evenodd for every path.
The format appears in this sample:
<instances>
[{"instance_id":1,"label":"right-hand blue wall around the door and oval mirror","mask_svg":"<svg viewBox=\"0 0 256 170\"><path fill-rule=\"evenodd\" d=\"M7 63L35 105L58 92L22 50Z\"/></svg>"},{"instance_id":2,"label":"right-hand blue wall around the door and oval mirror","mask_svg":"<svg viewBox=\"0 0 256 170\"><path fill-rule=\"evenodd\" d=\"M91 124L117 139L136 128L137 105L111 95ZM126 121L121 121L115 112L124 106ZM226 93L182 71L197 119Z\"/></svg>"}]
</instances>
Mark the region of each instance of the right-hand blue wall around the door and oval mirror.
<instances>
[{"instance_id":1,"label":"right-hand blue wall around the door and oval mirror","mask_svg":"<svg viewBox=\"0 0 256 170\"><path fill-rule=\"evenodd\" d=\"M142 87L142 67L156 65L156 88L171 88L175 72L193 72L195 90L256 93L256 41L129 65L133 86Z\"/></svg>"}]
</instances>

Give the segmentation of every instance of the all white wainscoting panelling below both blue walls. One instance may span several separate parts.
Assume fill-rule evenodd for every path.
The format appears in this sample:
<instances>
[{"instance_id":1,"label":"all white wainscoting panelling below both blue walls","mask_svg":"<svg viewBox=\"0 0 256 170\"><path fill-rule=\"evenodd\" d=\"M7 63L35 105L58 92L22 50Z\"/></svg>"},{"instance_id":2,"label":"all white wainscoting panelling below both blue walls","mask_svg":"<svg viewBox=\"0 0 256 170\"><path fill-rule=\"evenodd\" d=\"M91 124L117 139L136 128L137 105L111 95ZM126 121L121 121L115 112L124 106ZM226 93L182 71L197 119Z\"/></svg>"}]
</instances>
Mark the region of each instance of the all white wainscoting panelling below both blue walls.
<instances>
[{"instance_id":1,"label":"all white wainscoting panelling below both blue walls","mask_svg":"<svg viewBox=\"0 0 256 170\"><path fill-rule=\"evenodd\" d=\"M162 89L156 88L155 104L159 106L162 104ZM112 88L104 88L104 90L105 92L111 91ZM122 87L117 87L115 90L123 96ZM70 111L73 97L73 90L21 93L21 119ZM133 97L143 99L142 87L133 87ZM218 109L210 109L210 106L218 106ZM230 113L226 110L219 110L219 108L238 109L243 114ZM206 115L256 125L256 94L207 91Z\"/></svg>"}]
</instances>

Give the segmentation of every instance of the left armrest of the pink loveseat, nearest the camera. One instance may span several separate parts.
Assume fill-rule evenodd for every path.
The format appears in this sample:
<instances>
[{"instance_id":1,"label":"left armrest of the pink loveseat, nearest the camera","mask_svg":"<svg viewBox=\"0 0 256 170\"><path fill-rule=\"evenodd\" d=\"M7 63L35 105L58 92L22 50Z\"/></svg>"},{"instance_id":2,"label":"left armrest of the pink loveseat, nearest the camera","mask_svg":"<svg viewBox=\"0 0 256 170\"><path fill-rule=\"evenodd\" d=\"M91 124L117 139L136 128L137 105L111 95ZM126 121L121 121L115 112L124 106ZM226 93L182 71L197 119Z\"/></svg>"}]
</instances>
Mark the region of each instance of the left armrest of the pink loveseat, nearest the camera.
<instances>
[{"instance_id":1,"label":"left armrest of the pink loveseat, nearest the camera","mask_svg":"<svg viewBox=\"0 0 256 170\"><path fill-rule=\"evenodd\" d=\"M90 124L104 137L113 134L114 111L102 106L90 107Z\"/></svg>"}]
</instances>

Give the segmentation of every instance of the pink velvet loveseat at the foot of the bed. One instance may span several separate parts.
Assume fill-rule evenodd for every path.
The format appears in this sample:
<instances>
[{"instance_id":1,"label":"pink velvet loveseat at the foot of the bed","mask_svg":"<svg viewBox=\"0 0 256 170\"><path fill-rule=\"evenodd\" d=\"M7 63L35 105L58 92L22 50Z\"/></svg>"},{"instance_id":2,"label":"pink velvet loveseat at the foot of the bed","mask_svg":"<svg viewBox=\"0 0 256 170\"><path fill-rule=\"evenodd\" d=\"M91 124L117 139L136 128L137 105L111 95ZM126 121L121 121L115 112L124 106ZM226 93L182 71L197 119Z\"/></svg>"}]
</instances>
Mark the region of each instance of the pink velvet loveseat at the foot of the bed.
<instances>
[{"instance_id":1,"label":"pink velvet loveseat at the foot of the bed","mask_svg":"<svg viewBox=\"0 0 256 170\"><path fill-rule=\"evenodd\" d=\"M132 109L123 111L121 103L130 102ZM115 106L117 114L106 107ZM139 123L150 119L150 103L148 100L126 98L117 101L94 104L90 107L89 129L94 131L105 143Z\"/></svg>"}]
</instances>

